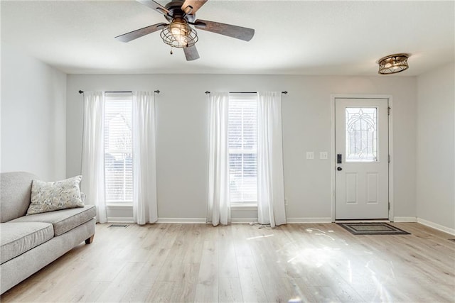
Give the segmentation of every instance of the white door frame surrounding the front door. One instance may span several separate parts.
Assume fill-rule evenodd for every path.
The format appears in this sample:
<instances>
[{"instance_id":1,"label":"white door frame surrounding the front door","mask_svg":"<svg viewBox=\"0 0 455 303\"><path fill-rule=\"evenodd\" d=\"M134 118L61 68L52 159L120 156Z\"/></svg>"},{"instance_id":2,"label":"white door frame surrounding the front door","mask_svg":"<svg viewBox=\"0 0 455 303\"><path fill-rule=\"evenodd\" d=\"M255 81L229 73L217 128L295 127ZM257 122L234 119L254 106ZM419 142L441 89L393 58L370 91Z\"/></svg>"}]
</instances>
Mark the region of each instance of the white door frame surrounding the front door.
<instances>
[{"instance_id":1,"label":"white door frame surrounding the front door","mask_svg":"<svg viewBox=\"0 0 455 303\"><path fill-rule=\"evenodd\" d=\"M392 95L390 94L331 94L331 220L335 222L335 99L387 99L389 104L388 132L389 132L389 221L394 221L394 199L393 199L393 106Z\"/></svg>"}]
</instances>

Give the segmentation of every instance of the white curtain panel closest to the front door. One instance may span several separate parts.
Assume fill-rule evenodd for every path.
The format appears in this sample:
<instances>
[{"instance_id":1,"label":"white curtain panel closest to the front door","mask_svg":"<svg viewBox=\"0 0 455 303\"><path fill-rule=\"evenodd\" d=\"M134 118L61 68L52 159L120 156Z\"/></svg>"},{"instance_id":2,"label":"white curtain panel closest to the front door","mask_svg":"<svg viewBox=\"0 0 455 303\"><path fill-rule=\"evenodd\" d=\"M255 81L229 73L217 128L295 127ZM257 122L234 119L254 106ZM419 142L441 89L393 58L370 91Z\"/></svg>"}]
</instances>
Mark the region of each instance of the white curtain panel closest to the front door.
<instances>
[{"instance_id":1,"label":"white curtain panel closest to the front door","mask_svg":"<svg viewBox=\"0 0 455 303\"><path fill-rule=\"evenodd\" d=\"M260 224L286 224L282 93L257 94L257 216Z\"/></svg>"}]
</instances>

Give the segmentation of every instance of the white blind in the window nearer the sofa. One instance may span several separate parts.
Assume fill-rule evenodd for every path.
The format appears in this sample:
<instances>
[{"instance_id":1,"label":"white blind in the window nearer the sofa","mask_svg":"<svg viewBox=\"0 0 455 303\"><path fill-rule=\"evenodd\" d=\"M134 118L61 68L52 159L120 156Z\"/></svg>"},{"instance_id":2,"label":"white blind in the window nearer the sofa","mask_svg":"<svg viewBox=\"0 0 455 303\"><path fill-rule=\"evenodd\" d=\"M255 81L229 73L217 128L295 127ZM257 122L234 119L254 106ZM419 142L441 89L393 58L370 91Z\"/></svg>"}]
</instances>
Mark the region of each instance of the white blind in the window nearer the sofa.
<instances>
[{"instance_id":1,"label":"white blind in the window nearer the sofa","mask_svg":"<svg viewBox=\"0 0 455 303\"><path fill-rule=\"evenodd\" d=\"M105 97L106 202L132 203L132 94L106 94Z\"/></svg>"}]
</instances>

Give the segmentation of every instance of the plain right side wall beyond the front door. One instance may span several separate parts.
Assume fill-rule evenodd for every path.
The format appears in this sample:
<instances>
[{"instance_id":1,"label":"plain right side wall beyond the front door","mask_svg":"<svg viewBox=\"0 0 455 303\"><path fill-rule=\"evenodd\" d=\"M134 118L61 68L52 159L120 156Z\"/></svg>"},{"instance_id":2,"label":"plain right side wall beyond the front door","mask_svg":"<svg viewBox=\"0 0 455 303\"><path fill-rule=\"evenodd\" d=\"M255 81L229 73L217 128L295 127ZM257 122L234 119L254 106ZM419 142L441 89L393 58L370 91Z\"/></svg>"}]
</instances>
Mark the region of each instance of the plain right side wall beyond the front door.
<instances>
[{"instance_id":1,"label":"plain right side wall beyond the front door","mask_svg":"<svg viewBox=\"0 0 455 303\"><path fill-rule=\"evenodd\" d=\"M455 68L417 77L417 216L455 233Z\"/></svg>"}]
</instances>

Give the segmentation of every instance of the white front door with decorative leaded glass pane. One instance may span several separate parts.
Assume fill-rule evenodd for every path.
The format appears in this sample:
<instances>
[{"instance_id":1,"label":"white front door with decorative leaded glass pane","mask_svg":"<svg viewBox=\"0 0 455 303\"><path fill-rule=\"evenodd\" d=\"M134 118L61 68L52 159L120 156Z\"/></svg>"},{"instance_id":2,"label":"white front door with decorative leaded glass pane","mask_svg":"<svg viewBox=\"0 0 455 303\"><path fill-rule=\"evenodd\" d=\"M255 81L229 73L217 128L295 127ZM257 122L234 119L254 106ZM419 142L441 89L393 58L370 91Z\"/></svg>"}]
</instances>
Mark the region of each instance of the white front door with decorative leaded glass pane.
<instances>
[{"instance_id":1,"label":"white front door with decorative leaded glass pane","mask_svg":"<svg viewBox=\"0 0 455 303\"><path fill-rule=\"evenodd\" d=\"M335 99L335 219L388 219L388 99Z\"/></svg>"}]
</instances>

